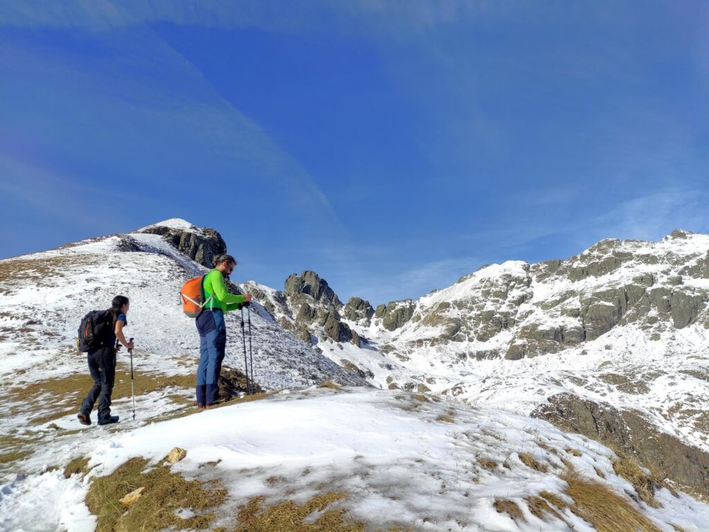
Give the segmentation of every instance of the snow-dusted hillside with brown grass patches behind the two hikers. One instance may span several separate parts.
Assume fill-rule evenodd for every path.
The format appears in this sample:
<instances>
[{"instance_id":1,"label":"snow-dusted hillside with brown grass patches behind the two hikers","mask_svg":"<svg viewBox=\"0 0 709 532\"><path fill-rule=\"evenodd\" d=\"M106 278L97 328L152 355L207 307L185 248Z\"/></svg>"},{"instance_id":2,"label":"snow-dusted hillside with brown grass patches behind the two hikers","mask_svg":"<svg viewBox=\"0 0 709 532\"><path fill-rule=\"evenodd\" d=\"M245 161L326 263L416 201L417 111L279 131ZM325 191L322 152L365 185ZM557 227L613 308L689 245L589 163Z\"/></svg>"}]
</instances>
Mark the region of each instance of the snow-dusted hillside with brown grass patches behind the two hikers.
<instances>
[{"instance_id":1,"label":"snow-dusted hillside with brown grass patches behind the two hikers","mask_svg":"<svg viewBox=\"0 0 709 532\"><path fill-rule=\"evenodd\" d=\"M110 307L117 294L131 302L125 334L135 337L135 386L145 390L138 395L142 419L183 408L199 361L199 336L178 294L184 281L203 271L160 235L142 232L0 261L2 433L76 424L75 410L91 383L86 355L76 347L78 324L89 310ZM364 385L282 329L260 305L252 308L253 373L261 387L323 380ZM224 366L243 370L238 311L227 315L227 324ZM125 350L118 361L118 380L126 382Z\"/></svg>"}]
</instances>

